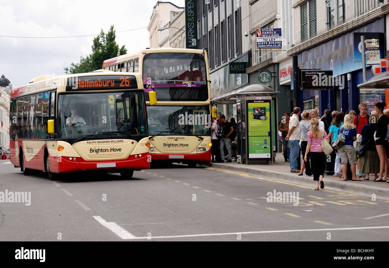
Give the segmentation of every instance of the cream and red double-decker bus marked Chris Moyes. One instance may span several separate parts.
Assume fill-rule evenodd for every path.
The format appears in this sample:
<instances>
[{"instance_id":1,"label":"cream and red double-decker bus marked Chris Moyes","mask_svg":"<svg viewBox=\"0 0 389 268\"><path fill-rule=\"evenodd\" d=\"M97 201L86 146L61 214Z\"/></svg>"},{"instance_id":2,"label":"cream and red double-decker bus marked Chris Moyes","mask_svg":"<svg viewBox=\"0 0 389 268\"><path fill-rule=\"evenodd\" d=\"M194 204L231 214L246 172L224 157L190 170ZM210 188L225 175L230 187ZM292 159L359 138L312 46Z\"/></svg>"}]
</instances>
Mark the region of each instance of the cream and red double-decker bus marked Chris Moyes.
<instances>
[{"instance_id":1,"label":"cream and red double-decker bus marked Chris Moyes","mask_svg":"<svg viewBox=\"0 0 389 268\"><path fill-rule=\"evenodd\" d=\"M210 84L206 50L156 48L103 62L114 72L140 72L151 85L157 104L149 105L150 155L153 163L196 163L211 160ZM145 88L149 92L150 88ZM148 96L146 95L146 98Z\"/></svg>"}]
</instances>

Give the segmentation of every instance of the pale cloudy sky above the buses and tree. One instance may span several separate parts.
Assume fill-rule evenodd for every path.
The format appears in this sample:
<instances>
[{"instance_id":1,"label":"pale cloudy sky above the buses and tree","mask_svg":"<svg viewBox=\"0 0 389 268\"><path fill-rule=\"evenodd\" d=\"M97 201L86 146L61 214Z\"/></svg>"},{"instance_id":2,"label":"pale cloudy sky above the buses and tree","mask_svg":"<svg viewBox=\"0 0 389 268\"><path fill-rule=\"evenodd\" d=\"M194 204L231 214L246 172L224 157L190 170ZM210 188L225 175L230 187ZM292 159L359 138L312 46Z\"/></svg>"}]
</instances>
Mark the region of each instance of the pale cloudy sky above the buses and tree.
<instances>
[{"instance_id":1,"label":"pale cloudy sky above the buses and tree","mask_svg":"<svg viewBox=\"0 0 389 268\"><path fill-rule=\"evenodd\" d=\"M170 0L184 7L184 0ZM78 36L104 33L114 24L116 43L127 52L149 47L152 9L157 0L0 0L2 36ZM138 29L142 28L142 29ZM133 31L126 31L137 29ZM117 33L118 31L126 31ZM64 67L92 52L95 36L21 38L0 36L0 74L13 87L37 76L65 74Z\"/></svg>"}]
</instances>

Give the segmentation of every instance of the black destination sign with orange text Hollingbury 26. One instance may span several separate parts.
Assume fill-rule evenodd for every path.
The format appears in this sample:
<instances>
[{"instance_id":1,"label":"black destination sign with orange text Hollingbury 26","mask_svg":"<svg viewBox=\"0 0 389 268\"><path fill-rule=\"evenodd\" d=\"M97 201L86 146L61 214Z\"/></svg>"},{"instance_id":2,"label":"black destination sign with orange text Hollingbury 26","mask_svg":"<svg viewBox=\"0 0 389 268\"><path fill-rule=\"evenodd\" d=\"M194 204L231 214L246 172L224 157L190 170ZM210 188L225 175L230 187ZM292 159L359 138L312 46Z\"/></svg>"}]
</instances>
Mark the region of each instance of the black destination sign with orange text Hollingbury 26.
<instances>
[{"instance_id":1,"label":"black destination sign with orange text Hollingbury 26","mask_svg":"<svg viewBox=\"0 0 389 268\"><path fill-rule=\"evenodd\" d=\"M66 91L78 90L110 90L110 89L136 89L138 88L137 79L133 75L92 75L70 77L67 80Z\"/></svg>"}]
</instances>

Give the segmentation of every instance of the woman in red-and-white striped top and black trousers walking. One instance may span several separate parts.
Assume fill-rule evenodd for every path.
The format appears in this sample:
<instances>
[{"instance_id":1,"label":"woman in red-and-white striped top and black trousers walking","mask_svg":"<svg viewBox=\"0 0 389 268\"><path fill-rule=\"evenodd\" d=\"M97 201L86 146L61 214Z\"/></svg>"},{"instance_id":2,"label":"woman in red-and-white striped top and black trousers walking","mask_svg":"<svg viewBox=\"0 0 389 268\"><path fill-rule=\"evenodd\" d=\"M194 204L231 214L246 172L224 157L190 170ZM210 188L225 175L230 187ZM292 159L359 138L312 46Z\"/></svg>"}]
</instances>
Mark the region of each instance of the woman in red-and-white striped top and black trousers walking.
<instances>
[{"instance_id":1,"label":"woman in red-and-white striped top and black trousers walking","mask_svg":"<svg viewBox=\"0 0 389 268\"><path fill-rule=\"evenodd\" d=\"M308 152L310 152L310 162L315 163L311 165L311 172L314 175L314 181L316 182L315 190L319 190L319 180L320 188L324 188L324 152L321 147L321 140L325 138L329 142L329 138L325 130L319 129L319 120L317 118L311 119L311 128L307 133L308 144L307 150L305 150L304 161L308 161Z\"/></svg>"}]
</instances>

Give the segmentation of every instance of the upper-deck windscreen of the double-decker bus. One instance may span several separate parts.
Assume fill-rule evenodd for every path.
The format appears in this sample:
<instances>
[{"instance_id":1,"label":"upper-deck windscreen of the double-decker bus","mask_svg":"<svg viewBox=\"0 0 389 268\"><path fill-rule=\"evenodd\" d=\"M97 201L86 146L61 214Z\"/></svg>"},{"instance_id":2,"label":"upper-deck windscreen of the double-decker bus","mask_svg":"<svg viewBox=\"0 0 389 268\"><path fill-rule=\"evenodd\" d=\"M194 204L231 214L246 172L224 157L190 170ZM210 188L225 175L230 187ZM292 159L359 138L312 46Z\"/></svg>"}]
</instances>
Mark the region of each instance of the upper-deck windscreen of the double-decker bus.
<instances>
[{"instance_id":1,"label":"upper-deck windscreen of the double-decker bus","mask_svg":"<svg viewBox=\"0 0 389 268\"><path fill-rule=\"evenodd\" d=\"M143 58L144 83L155 87L159 101L206 101L206 75L201 54L150 53Z\"/></svg>"}]
</instances>

